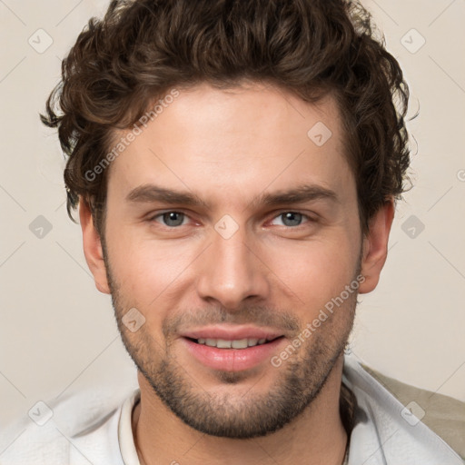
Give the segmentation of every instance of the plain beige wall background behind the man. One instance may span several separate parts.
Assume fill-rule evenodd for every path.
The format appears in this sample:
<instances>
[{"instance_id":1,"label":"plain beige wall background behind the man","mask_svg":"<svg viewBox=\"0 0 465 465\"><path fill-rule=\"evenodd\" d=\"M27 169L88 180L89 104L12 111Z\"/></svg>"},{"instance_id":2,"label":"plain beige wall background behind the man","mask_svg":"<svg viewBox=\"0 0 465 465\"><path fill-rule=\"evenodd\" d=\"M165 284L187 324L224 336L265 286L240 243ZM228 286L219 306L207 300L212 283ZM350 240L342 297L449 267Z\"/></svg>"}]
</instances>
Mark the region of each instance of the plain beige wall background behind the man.
<instances>
[{"instance_id":1,"label":"plain beige wall background behind the man","mask_svg":"<svg viewBox=\"0 0 465 465\"><path fill-rule=\"evenodd\" d=\"M110 299L95 290L80 227L65 213L57 137L38 118L60 58L106 5L0 0L0 429L36 401L134 382ZM364 5L411 85L410 115L420 107L420 116L410 124L415 187L399 204L381 283L361 297L352 351L388 376L465 401L465 2ZM28 43L46 45L40 28L53 40L44 53ZM42 239L29 229L39 215L52 227ZM411 238L407 221L424 230Z\"/></svg>"}]
</instances>

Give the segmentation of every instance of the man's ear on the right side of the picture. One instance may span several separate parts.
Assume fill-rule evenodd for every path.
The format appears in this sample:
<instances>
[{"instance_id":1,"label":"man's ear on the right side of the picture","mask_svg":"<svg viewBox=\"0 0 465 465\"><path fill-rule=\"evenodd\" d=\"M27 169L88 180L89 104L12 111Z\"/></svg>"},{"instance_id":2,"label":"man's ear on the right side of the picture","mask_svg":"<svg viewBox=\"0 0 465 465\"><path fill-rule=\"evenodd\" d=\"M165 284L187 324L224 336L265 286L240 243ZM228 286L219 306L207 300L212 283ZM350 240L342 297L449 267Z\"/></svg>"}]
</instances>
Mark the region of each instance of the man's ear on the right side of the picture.
<instances>
[{"instance_id":1,"label":"man's ear on the right side of the picture","mask_svg":"<svg viewBox=\"0 0 465 465\"><path fill-rule=\"evenodd\" d=\"M371 292L380 281L380 274L388 255L389 233L394 218L394 199L391 197L380 210L373 215L369 223L369 232L363 237L361 274L361 294Z\"/></svg>"}]
</instances>

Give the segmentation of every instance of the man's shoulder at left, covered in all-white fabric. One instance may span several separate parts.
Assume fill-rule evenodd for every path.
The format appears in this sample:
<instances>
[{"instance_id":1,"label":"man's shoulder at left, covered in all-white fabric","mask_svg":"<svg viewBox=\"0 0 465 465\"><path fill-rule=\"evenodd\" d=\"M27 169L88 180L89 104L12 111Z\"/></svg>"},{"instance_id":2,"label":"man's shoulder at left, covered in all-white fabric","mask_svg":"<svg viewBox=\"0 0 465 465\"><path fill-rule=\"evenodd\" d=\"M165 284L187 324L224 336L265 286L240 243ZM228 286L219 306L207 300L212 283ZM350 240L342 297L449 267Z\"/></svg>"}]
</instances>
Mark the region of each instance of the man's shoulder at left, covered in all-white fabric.
<instances>
[{"instance_id":1,"label":"man's shoulder at left, covered in all-white fabric","mask_svg":"<svg viewBox=\"0 0 465 465\"><path fill-rule=\"evenodd\" d=\"M35 404L0 434L2 465L119 465L118 421L124 392L94 388ZM122 462L121 462L122 464Z\"/></svg>"}]
</instances>

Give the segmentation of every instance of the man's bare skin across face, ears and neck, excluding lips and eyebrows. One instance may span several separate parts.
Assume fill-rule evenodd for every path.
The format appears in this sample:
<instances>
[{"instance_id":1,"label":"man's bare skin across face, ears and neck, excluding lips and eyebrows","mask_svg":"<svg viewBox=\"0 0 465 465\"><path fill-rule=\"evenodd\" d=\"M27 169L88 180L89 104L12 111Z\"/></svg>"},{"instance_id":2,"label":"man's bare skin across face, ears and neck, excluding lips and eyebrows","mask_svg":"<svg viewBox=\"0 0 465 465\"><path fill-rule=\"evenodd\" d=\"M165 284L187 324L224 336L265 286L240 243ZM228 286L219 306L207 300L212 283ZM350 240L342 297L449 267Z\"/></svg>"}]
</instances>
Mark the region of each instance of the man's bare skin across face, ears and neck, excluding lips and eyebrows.
<instances>
[{"instance_id":1,"label":"man's bare skin across face, ears and neck, excluding lips and eyebrows","mask_svg":"<svg viewBox=\"0 0 465 465\"><path fill-rule=\"evenodd\" d=\"M332 133L322 146L307 135L318 122ZM207 204L128 200L151 183ZM337 200L257 203L263 193L303 183ZM214 370L181 338L212 324L264 326L285 336L279 355L357 276L364 277L358 292L376 287L393 201L362 237L331 97L308 104L261 84L183 90L112 163L106 208L102 241L80 203L84 254L97 289L112 294L139 369L133 425L141 463L340 464L343 348L357 292L280 367L266 360L249 370ZM169 212L183 214L163 217ZM286 219L288 212L302 216ZM228 239L215 230L225 214L238 227ZM145 319L134 332L122 323L131 308Z\"/></svg>"}]
</instances>

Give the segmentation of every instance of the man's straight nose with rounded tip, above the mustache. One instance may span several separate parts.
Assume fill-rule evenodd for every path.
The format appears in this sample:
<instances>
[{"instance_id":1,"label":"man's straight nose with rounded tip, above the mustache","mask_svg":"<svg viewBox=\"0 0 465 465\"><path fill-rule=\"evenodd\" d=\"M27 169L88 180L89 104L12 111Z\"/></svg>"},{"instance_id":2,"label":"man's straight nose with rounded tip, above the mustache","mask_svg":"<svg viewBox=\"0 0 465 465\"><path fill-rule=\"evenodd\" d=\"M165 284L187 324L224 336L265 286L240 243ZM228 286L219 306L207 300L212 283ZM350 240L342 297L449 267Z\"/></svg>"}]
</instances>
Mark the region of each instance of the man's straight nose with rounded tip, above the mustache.
<instances>
[{"instance_id":1,"label":"man's straight nose with rounded tip, above the mustache","mask_svg":"<svg viewBox=\"0 0 465 465\"><path fill-rule=\"evenodd\" d=\"M199 296L230 310L239 308L245 299L266 298L270 292L269 269L245 228L241 226L229 238L213 230L212 240L200 257Z\"/></svg>"}]
</instances>

